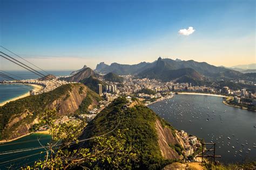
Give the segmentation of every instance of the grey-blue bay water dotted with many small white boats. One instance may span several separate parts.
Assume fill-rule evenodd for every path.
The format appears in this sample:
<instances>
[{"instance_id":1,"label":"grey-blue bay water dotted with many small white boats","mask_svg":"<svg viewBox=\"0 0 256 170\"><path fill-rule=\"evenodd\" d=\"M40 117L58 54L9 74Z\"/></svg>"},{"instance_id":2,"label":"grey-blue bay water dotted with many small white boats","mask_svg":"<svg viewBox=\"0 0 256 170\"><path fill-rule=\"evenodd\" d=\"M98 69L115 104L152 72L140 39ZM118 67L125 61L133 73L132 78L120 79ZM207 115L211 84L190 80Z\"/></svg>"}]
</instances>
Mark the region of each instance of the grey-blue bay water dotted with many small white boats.
<instances>
[{"instance_id":1,"label":"grey-blue bay water dotted with many small white boats","mask_svg":"<svg viewBox=\"0 0 256 170\"><path fill-rule=\"evenodd\" d=\"M253 127L256 126L256 112L229 107L222 103L223 100L216 96L175 95L149 108L174 128L203 138L207 143L216 143L216 154L221 155L221 162L256 160L256 148L253 147L256 146L256 128Z\"/></svg>"}]
</instances>

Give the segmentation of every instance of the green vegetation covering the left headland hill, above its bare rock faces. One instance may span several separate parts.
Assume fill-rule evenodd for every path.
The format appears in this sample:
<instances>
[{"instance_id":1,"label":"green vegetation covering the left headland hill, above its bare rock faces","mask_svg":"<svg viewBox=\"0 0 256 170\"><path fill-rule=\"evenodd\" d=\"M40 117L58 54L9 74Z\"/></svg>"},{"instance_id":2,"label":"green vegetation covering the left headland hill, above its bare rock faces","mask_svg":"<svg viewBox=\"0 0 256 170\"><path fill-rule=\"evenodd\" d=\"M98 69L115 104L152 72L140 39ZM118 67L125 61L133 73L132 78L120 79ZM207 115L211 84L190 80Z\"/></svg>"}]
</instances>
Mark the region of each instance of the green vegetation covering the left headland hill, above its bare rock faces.
<instances>
[{"instance_id":1,"label":"green vegetation covering the left headland hill, above its bare rock faces","mask_svg":"<svg viewBox=\"0 0 256 170\"><path fill-rule=\"evenodd\" d=\"M9 102L3 107L0 107L0 139L8 139L12 132L16 131L16 128L19 125L30 124L40 116L45 109L51 104L53 101L58 98L63 98L63 101L67 100L70 97L70 92L73 87L80 86L79 84L65 84L56 88L55 90L50 91L49 93L43 93L35 96L28 96L22 98L20 100ZM90 89L87 89L89 96L91 98L95 98L95 100L101 100L100 96L93 93ZM83 89L79 88L79 93L82 93ZM84 100L85 102L85 100ZM86 107L85 107L86 108ZM83 108L83 109L85 109ZM27 113L26 118L18 121L11 127L6 128L10 119L14 119L15 117L20 117L22 114Z\"/></svg>"}]
</instances>

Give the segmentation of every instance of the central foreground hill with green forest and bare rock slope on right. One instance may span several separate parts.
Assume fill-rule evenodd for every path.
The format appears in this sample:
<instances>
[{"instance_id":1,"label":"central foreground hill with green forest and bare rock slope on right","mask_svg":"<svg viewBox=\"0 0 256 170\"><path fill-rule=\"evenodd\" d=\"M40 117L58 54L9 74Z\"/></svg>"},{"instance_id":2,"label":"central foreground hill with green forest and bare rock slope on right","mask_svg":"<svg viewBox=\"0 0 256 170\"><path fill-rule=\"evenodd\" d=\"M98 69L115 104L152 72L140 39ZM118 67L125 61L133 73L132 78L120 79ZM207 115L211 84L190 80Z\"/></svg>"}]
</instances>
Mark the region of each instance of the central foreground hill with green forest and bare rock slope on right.
<instances>
[{"instance_id":1,"label":"central foreground hill with green forest and bare rock slope on right","mask_svg":"<svg viewBox=\"0 0 256 170\"><path fill-rule=\"evenodd\" d=\"M114 100L88 124L80 138L86 139L104 134L118 125L116 130L107 135L118 137L118 131L124 134L126 147L132 146L133 153L138 157L138 161L125 165L131 169L161 169L171 160L183 158L172 147L178 146L182 152L184 145L179 142L178 134L170 124L138 101L134 101L137 104L133 107L122 111L126 103L123 97ZM87 140L77 147L93 148L93 146L95 146L94 141ZM90 168L95 167L112 169L107 161L96 162Z\"/></svg>"}]
</instances>

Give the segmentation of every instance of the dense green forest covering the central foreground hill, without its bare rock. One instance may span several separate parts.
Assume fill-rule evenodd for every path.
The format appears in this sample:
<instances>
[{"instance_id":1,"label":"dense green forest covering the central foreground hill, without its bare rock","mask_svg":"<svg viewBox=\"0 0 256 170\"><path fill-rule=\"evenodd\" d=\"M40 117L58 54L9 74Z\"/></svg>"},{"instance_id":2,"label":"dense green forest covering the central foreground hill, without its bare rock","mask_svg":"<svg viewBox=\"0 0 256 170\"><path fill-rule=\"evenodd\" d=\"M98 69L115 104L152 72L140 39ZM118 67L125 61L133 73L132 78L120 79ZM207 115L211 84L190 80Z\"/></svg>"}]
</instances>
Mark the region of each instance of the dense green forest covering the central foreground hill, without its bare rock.
<instances>
[{"instance_id":1,"label":"dense green forest covering the central foreground hill, without its bare rock","mask_svg":"<svg viewBox=\"0 0 256 170\"><path fill-rule=\"evenodd\" d=\"M121 120L118 129L123 131L127 144L134 147L134 152L138 156L138 161L131 161L129 166L140 169L164 167L170 161L161 157L155 129L156 114L143 105L136 105L122 111L121 108L124 104L126 104L125 98L115 100L89 123L81 138L89 138L108 132ZM111 135L115 137L116 131L112 132ZM88 141L82 146L93 147L94 145L95 143ZM95 166L109 168L110 165L106 162L98 162L91 168Z\"/></svg>"}]
</instances>

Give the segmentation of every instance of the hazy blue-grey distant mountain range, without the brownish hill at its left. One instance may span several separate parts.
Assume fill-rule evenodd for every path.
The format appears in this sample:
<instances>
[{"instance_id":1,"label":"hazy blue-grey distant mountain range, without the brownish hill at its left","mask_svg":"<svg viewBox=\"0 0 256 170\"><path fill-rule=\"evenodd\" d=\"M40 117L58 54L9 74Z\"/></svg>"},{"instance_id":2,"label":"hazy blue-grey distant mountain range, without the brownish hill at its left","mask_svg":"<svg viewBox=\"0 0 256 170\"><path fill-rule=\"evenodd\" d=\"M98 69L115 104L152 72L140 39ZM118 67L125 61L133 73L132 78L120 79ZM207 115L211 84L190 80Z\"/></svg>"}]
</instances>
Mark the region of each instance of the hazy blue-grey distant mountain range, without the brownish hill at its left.
<instances>
[{"instance_id":1,"label":"hazy blue-grey distant mountain range, without the brownish hill at its left","mask_svg":"<svg viewBox=\"0 0 256 170\"><path fill-rule=\"evenodd\" d=\"M100 62L95 72L101 74L115 73L118 75L135 75L141 78L158 79L162 81L191 82L200 85L211 80L230 80L240 77L243 73L225 67L216 67L206 62L194 60L161 59L153 62L140 62L136 65L122 65Z\"/></svg>"}]
</instances>

